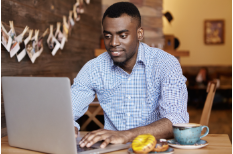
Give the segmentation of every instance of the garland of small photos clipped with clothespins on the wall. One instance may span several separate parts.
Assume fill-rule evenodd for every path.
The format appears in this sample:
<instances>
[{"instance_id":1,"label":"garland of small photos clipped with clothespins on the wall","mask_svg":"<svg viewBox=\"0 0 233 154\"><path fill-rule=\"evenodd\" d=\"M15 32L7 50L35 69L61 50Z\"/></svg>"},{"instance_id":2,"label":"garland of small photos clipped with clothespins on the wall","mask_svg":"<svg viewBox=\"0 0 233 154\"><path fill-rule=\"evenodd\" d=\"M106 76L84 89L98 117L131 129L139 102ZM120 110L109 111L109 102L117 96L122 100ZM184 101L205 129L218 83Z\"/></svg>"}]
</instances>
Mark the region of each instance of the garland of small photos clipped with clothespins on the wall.
<instances>
[{"instance_id":1,"label":"garland of small photos clipped with clothespins on the wall","mask_svg":"<svg viewBox=\"0 0 233 154\"><path fill-rule=\"evenodd\" d=\"M90 4L90 0L85 0L85 2L86 4ZM68 20L66 16L63 16L63 25L61 25L60 22L57 23L55 34L53 33L53 25L50 25L47 44L53 56L55 56L59 49L63 50L65 42L68 41L68 35L71 34L75 22L79 21L80 14L84 13L83 5L83 0L76 1L73 5L73 10L69 11ZM33 36L33 30L26 26L23 32L16 36L13 21L9 21L9 24L10 31L7 32L1 23L1 42L10 53L10 57L12 58L16 55L18 62L20 62L26 55L28 55L31 62L34 63L43 52L43 39L48 34L48 28L39 37L39 30L35 30L35 34ZM23 39L27 32L29 33L28 37Z\"/></svg>"}]
</instances>

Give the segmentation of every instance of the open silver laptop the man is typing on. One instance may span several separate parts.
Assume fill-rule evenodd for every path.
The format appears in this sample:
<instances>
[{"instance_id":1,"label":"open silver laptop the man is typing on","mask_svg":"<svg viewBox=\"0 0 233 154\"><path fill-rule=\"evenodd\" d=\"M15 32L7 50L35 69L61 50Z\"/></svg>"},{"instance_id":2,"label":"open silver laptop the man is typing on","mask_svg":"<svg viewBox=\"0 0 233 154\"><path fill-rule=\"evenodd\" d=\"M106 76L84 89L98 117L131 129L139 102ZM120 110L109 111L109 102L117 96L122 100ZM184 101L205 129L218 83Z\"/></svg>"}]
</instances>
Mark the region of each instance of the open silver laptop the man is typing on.
<instances>
[{"instance_id":1,"label":"open silver laptop the man is typing on","mask_svg":"<svg viewBox=\"0 0 233 154\"><path fill-rule=\"evenodd\" d=\"M2 77L10 146L54 154L106 153L129 144L80 148L75 139L70 80L63 77Z\"/></svg>"}]
</instances>

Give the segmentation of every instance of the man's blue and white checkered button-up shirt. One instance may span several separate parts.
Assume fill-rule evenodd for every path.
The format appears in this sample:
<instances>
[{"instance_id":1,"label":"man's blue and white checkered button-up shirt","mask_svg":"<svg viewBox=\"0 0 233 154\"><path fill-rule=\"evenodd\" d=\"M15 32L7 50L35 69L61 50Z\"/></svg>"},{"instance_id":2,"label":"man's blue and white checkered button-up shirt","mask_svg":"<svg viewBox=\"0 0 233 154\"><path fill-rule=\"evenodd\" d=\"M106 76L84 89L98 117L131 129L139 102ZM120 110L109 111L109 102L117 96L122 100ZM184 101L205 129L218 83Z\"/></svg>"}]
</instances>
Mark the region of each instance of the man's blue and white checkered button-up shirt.
<instances>
[{"instance_id":1,"label":"man's blue and white checkered button-up shirt","mask_svg":"<svg viewBox=\"0 0 233 154\"><path fill-rule=\"evenodd\" d=\"M187 123L186 78L178 60L163 50L140 43L130 74L115 66L107 52L87 62L71 87L74 125L97 94L104 128L128 130L161 118Z\"/></svg>"}]
</instances>

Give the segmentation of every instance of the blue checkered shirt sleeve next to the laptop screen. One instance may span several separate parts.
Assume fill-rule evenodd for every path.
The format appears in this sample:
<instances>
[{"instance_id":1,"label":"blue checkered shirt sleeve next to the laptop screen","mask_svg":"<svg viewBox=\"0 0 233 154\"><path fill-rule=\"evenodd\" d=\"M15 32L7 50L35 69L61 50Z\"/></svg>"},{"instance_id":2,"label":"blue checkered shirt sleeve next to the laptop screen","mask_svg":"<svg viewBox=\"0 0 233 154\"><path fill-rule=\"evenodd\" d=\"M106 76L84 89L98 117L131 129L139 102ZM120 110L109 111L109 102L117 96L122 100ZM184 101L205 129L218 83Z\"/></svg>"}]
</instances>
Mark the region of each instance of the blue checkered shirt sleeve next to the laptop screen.
<instances>
[{"instance_id":1,"label":"blue checkered shirt sleeve next to the laptop screen","mask_svg":"<svg viewBox=\"0 0 233 154\"><path fill-rule=\"evenodd\" d=\"M71 99L74 126L80 130L80 125L76 122L88 110L89 104L95 98L95 91L91 85L90 63L84 65L80 70L74 83L71 86Z\"/></svg>"}]
</instances>

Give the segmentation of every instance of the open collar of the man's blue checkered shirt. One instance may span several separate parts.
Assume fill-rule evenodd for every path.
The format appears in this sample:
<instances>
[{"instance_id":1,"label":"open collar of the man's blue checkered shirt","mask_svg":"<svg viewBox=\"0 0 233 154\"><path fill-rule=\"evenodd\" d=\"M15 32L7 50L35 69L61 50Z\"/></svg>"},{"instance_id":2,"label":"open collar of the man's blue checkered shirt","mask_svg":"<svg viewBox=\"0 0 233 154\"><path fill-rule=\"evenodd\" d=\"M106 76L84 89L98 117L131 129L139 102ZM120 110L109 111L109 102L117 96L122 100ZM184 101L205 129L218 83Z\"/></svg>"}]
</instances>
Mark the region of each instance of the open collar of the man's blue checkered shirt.
<instances>
[{"instance_id":1,"label":"open collar of the man's blue checkered shirt","mask_svg":"<svg viewBox=\"0 0 233 154\"><path fill-rule=\"evenodd\" d=\"M110 57L110 55L109 55L109 58L110 58L110 66L112 68L115 68L116 65L114 65L114 62L113 62L112 58ZM144 65L146 64L146 62L145 62L145 51L144 51L144 48L143 48L143 43L139 42L138 55L137 55L136 63L141 63L141 62Z\"/></svg>"}]
</instances>

